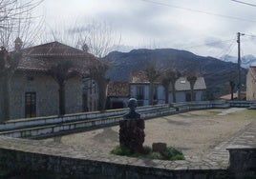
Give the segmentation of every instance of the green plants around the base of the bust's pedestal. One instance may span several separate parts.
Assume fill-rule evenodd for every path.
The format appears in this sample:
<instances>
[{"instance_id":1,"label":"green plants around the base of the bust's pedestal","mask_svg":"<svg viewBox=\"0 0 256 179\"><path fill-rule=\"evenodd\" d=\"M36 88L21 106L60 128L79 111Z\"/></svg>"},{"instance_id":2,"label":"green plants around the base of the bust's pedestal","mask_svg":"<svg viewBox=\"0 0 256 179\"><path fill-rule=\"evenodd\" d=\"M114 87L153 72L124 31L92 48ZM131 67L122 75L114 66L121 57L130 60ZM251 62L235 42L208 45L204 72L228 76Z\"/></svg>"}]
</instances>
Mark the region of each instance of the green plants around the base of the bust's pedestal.
<instances>
[{"instance_id":1,"label":"green plants around the base of the bust's pedestal","mask_svg":"<svg viewBox=\"0 0 256 179\"><path fill-rule=\"evenodd\" d=\"M158 160L184 160L184 155L179 149L173 147L168 147L162 153L152 151L148 146L144 146L143 153L132 153L130 149L117 146L115 149L110 151L111 154L121 155L121 156L130 156L137 158L149 158L149 159L158 159Z\"/></svg>"}]
</instances>

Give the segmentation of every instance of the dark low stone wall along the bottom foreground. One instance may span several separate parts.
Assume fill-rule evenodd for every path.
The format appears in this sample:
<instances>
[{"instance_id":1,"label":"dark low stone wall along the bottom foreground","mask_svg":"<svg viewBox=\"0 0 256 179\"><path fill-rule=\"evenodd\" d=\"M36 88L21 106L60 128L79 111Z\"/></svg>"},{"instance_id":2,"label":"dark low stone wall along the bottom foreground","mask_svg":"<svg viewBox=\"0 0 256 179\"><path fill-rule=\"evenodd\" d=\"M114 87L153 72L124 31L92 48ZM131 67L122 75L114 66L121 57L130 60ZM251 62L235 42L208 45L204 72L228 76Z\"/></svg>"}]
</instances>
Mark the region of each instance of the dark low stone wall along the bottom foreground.
<instances>
[{"instance_id":1,"label":"dark low stone wall along the bottom foreground","mask_svg":"<svg viewBox=\"0 0 256 179\"><path fill-rule=\"evenodd\" d=\"M61 152L60 152L61 153ZM77 153L76 153L77 154ZM113 156L113 161L116 156ZM132 158L132 160L137 160ZM117 162L104 162L84 159L82 156L62 156L61 154L47 154L44 151L28 152L16 149L0 149L0 160L10 168L16 170L51 171L58 178L92 178L92 179L208 179L226 176L225 169L163 169L154 168L154 160L144 160L145 164L136 165ZM139 159L142 161L142 159ZM119 162L118 162L119 161ZM148 165L146 164L148 163ZM172 163L169 163L170 168ZM175 164L173 164L175 165Z\"/></svg>"}]
</instances>

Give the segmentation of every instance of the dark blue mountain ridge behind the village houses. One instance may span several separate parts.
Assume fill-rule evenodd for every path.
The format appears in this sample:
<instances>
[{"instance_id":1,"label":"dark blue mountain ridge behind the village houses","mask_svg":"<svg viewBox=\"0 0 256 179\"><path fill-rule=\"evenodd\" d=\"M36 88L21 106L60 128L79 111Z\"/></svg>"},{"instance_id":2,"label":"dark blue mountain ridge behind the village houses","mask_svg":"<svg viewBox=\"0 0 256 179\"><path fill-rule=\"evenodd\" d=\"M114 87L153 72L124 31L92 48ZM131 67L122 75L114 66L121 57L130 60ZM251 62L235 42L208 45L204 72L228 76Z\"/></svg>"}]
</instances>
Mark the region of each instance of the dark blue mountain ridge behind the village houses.
<instances>
[{"instance_id":1,"label":"dark blue mountain ridge behind the village houses","mask_svg":"<svg viewBox=\"0 0 256 179\"><path fill-rule=\"evenodd\" d=\"M197 71L203 75L207 90L218 98L230 92L229 80L237 79L237 65L213 57L198 56L186 50L157 49L131 50L130 52L110 52L103 61L110 65L107 75L113 81L129 81L131 71L154 65L160 69L175 68ZM245 84L246 70L242 69L242 84Z\"/></svg>"}]
</instances>

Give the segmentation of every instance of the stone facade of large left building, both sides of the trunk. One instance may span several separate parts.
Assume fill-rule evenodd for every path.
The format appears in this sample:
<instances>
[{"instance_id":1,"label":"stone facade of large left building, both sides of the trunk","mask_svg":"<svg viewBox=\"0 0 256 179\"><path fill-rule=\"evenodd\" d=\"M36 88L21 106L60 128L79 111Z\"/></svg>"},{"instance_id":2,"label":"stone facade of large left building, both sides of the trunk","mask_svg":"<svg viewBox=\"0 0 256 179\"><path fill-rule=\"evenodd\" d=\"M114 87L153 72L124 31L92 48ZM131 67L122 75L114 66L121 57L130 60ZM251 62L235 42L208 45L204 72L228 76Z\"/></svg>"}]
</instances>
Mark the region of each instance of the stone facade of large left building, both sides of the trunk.
<instances>
[{"instance_id":1,"label":"stone facade of large left building, both sides of the trunk","mask_svg":"<svg viewBox=\"0 0 256 179\"><path fill-rule=\"evenodd\" d=\"M66 84L66 112L82 111L82 79ZM25 92L36 92L36 116L58 114L58 85L46 74L16 73L11 78L11 119L25 118Z\"/></svg>"}]
</instances>

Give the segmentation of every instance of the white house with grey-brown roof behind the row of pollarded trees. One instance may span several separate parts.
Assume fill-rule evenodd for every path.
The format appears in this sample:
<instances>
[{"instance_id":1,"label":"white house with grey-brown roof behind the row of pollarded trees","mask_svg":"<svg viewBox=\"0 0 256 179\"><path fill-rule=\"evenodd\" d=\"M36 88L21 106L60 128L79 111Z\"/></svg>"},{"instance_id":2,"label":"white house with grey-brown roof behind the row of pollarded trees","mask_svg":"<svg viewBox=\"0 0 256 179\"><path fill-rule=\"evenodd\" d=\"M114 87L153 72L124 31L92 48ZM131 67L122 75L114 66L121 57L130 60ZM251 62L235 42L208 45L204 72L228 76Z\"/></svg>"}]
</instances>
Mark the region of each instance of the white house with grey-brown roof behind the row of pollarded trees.
<instances>
[{"instance_id":1,"label":"white house with grey-brown roof behind the row of pollarded trees","mask_svg":"<svg viewBox=\"0 0 256 179\"><path fill-rule=\"evenodd\" d=\"M132 72L130 75L130 96L138 99L139 106L149 105L149 81L146 79L143 72ZM172 88L169 87L168 102L172 103ZM181 77L176 81L176 102L187 102L191 100L191 92L189 82L185 77ZM194 86L194 95L196 101L203 100L203 92L206 86L203 77L198 77ZM154 105L164 104L164 88L160 81L154 83Z\"/></svg>"}]
</instances>

